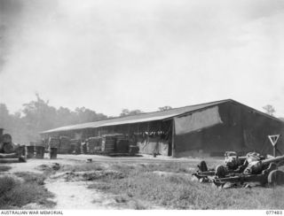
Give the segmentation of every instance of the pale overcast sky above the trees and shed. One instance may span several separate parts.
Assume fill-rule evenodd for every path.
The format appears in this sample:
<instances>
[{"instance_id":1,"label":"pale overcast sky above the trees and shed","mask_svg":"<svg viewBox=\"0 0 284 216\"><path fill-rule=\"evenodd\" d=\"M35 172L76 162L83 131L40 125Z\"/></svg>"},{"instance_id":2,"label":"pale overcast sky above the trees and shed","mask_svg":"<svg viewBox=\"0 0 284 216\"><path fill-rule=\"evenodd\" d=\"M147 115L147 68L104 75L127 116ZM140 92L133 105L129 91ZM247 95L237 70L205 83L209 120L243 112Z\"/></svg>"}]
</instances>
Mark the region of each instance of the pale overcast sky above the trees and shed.
<instances>
[{"instance_id":1,"label":"pale overcast sky above the trees and shed","mask_svg":"<svg viewBox=\"0 0 284 216\"><path fill-rule=\"evenodd\" d=\"M233 98L284 116L282 0L0 0L0 103L107 115Z\"/></svg>"}]
</instances>

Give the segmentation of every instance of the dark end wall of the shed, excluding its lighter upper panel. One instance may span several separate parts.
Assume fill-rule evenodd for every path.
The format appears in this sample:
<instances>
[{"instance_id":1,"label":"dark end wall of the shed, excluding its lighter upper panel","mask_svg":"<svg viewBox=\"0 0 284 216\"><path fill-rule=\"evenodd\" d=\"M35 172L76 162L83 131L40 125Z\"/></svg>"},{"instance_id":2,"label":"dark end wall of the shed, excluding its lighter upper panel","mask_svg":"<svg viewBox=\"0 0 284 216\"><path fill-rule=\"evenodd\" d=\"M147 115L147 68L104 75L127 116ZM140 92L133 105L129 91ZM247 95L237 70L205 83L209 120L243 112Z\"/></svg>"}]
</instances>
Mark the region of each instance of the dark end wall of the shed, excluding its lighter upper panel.
<instances>
[{"instance_id":1,"label":"dark end wall of the shed, excluding its lighter upper panel","mask_svg":"<svg viewBox=\"0 0 284 216\"><path fill-rule=\"evenodd\" d=\"M201 151L209 155L224 155L226 150L240 153L256 150L272 154L267 135L283 134L283 123L266 117L241 104L227 102L218 105L223 123L184 135L175 135L175 155L183 157ZM284 153L283 140L278 148Z\"/></svg>"}]
</instances>

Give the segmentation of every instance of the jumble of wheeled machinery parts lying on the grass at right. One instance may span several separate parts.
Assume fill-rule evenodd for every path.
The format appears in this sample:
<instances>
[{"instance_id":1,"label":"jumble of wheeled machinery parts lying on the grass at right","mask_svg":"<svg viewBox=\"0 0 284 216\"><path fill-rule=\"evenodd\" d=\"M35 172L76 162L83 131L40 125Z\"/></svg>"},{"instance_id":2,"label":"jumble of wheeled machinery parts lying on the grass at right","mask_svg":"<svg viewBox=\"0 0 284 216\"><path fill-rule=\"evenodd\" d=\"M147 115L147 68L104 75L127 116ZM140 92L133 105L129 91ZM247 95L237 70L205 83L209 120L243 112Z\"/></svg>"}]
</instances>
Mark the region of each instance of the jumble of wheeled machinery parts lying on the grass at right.
<instances>
[{"instance_id":1,"label":"jumble of wheeled machinery parts lying on the grass at right","mask_svg":"<svg viewBox=\"0 0 284 216\"><path fill-rule=\"evenodd\" d=\"M193 176L201 182L210 182L219 188L250 187L284 184L284 156L264 158L256 152L238 157L233 152L225 152L225 163L216 169L208 169L201 161L199 170Z\"/></svg>"}]
</instances>

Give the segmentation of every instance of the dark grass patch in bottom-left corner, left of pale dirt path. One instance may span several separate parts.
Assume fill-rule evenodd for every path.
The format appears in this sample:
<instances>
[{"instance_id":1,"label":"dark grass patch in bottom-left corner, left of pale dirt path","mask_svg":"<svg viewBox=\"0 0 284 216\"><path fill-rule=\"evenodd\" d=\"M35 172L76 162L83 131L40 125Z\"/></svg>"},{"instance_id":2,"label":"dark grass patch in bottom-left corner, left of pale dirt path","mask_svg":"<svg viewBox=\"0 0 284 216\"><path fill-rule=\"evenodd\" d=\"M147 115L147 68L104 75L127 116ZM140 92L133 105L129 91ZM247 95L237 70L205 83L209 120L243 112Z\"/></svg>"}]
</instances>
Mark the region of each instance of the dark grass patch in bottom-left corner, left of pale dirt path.
<instances>
[{"instance_id":1,"label":"dark grass patch in bottom-left corner, left of pale dirt path","mask_svg":"<svg viewBox=\"0 0 284 216\"><path fill-rule=\"evenodd\" d=\"M52 195L43 187L43 177L24 173L17 175L24 181L10 176L0 178L0 209L17 209L30 203L42 204L48 208L54 205L48 200Z\"/></svg>"}]
</instances>

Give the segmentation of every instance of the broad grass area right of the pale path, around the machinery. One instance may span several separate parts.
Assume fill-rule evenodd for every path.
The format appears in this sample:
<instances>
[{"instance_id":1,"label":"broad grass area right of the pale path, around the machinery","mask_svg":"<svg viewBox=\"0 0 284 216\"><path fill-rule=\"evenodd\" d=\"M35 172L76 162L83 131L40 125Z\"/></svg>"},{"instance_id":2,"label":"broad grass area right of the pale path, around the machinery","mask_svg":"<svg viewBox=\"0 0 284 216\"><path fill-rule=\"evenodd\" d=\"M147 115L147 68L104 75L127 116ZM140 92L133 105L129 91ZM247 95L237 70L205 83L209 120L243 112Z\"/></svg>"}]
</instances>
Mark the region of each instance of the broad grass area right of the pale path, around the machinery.
<instances>
[{"instance_id":1,"label":"broad grass area right of the pale path, around the machinery","mask_svg":"<svg viewBox=\"0 0 284 216\"><path fill-rule=\"evenodd\" d=\"M217 161L215 161L217 164ZM211 184L192 181L194 163L118 164L110 166L124 174L124 178L99 179L90 189L114 195L127 194L132 200L146 200L170 209L283 209L284 187L252 189L217 189ZM213 166L214 167L214 166ZM153 171L178 173L159 176ZM188 174L187 174L188 173ZM183 175L185 174L185 175ZM142 204L143 205L143 204ZM146 206L144 206L146 207ZM143 206L132 206L143 209Z\"/></svg>"}]
</instances>

